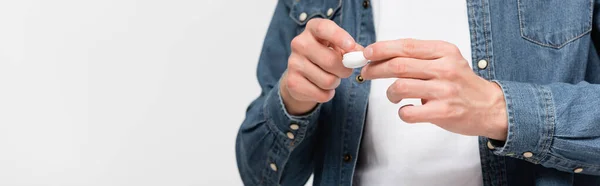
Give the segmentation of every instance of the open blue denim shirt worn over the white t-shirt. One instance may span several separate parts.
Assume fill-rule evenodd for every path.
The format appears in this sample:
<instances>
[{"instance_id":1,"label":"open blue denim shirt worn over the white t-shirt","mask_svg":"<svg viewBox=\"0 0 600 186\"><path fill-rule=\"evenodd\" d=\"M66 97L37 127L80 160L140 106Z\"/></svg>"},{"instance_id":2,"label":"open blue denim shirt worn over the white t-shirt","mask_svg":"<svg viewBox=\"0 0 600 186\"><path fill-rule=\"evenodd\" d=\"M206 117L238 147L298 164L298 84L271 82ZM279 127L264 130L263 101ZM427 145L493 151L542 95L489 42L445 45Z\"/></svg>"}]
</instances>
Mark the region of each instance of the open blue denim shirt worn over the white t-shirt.
<instances>
[{"instance_id":1,"label":"open blue denim shirt worn over the white t-shirt","mask_svg":"<svg viewBox=\"0 0 600 186\"><path fill-rule=\"evenodd\" d=\"M508 111L506 141L479 140L484 185L600 185L600 2L467 6L473 71L501 86ZM335 21L363 46L376 41L368 0L279 0L257 68L262 93L236 140L246 185L303 185L311 173L314 185L352 185L370 85L360 69L307 115L287 113L279 95L290 42L312 18Z\"/></svg>"}]
</instances>

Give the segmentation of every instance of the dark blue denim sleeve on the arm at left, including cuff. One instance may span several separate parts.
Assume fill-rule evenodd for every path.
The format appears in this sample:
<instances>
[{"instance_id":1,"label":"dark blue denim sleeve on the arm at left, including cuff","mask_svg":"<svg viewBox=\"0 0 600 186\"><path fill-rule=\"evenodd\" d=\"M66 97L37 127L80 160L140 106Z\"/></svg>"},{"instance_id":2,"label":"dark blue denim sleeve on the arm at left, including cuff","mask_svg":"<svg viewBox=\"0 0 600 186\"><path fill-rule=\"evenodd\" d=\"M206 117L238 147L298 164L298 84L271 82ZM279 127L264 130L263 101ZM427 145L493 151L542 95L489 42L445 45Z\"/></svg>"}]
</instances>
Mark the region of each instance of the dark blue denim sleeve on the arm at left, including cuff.
<instances>
[{"instance_id":1,"label":"dark blue denim sleeve on the arm at left, including cuff","mask_svg":"<svg viewBox=\"0 0 600 186\"><path fill-rule=\"evenodd\" d=\"M248 107L237 134L237 164L245 185L303 184L312 173L312 134L320 105L307 115L292 116L279 94L278 82L298 29L288 16L291 2L277 3L257 68L262 92Z\"/></svg>"}]
</instances>

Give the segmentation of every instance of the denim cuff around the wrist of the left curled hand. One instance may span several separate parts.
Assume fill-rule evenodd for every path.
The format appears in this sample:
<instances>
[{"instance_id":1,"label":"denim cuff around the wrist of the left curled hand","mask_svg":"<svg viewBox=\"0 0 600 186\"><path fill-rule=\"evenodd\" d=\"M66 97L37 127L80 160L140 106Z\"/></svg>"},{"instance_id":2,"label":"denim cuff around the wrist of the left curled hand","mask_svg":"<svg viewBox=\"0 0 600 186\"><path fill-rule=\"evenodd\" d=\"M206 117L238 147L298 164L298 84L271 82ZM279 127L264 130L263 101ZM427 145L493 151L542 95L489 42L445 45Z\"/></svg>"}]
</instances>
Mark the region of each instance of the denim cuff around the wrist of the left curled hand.
<instances>
[{"instance_id":1,"label":"denim cuff around the wrist of the left curled hand","mask_svg":"<svg viewBox=\"0 0 600 186\"><path fill-rule=\"evenodd\" d=\"M316 128L316 123L321 110L318 104L311 112L296 116L287 112L281 98L279 84L269 92L265 101L264 112L269 129L287 141L290 149L293 149L302 140L310 136Z\"/></svg>"}]
</instances>

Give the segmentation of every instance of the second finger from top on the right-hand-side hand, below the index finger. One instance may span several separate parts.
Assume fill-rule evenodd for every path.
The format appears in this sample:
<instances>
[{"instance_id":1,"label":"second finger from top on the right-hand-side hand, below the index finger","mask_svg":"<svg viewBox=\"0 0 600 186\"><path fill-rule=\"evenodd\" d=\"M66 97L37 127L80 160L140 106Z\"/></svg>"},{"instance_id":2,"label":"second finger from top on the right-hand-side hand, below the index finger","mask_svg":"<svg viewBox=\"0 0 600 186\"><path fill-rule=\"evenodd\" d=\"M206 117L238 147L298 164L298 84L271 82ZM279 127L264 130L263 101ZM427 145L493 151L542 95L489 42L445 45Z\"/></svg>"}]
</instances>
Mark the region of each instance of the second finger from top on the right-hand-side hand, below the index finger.
<instances>
[{"instance_id":1,"label":"second finger from top on the right-hand-side hand, below the index finger","mask_svg":"<svg viewBox=\"0 0 600 186\"><path fill-rule=\"evenodd\" d=\"M413 78L432 79L437 72L436 61L414 58L392 58L389 60L371 62L361 71L361 76L367 80L378 78Z\"/></svg>"}]
</instances>

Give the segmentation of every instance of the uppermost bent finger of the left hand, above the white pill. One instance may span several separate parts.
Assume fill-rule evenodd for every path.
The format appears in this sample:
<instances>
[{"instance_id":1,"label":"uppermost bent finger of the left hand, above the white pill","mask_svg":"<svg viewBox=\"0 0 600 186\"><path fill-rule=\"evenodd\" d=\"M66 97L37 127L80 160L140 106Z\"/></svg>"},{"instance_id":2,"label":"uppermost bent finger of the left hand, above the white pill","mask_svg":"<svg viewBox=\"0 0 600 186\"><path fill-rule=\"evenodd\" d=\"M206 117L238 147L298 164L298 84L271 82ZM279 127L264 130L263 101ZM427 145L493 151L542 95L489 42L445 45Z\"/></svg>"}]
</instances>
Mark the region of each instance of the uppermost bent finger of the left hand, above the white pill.
<instances>
[{"instance_id":1,"label":"uppermost bent finger of the left hand, above the white pill","mask_svg":"<svg viewBox=\"0 0 600 186\"><path fill-rule=\"evenodd\" d=\"M311 19L306 28L315 38L327 41L344 51L351 51L356 45L348 32L329 19Z\"/></svg>"}]
</instances>

